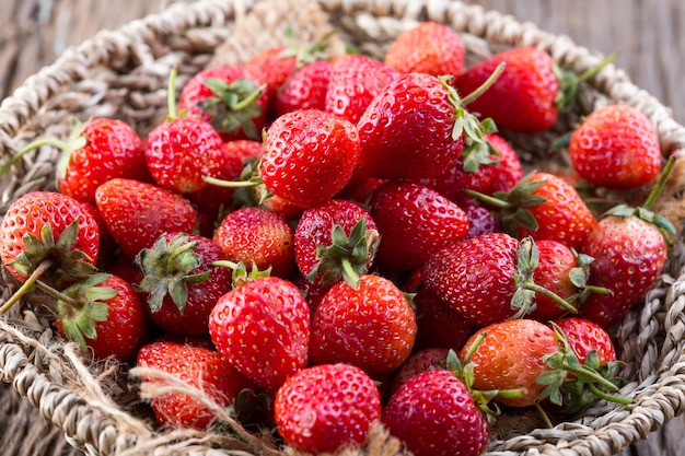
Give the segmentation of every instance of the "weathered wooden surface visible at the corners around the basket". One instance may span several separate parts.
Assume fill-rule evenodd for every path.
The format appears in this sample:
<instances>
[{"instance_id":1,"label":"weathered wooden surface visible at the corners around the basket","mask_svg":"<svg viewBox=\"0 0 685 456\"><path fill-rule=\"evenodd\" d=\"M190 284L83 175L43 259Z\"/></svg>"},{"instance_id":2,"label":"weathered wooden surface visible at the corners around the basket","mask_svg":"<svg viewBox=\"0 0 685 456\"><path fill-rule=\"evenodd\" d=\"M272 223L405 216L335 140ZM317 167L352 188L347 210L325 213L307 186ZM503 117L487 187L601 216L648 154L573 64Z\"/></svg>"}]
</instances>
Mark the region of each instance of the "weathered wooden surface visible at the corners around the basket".
<instances>
[{"instance_id":1,"label":"weathered wooden surface visible at the corners around the basket","mask_svg":"<svg viewBox=\"0 0 685 456\"><path fill-rule=\"evenodd\" d=\"M0 0L0 98L67 47L103 28L115 28L176 1L193 0ZM465 0L531 21L604 54L632 81L673 109L685 124L685 3L682 0ZM3 454L66 455L37 411L0 388L0 447ZM9 410L9 411L7 411ZM19 431L18 431L19 430ZM22 431L23 430L23 431ZM32 436L22 432L32 432ZM42 444L40 435L44 441ZM37 439L37 440L36 440ZM685 419L672 420L620 456L685 454Z\"/></svg>"}]
</instances>

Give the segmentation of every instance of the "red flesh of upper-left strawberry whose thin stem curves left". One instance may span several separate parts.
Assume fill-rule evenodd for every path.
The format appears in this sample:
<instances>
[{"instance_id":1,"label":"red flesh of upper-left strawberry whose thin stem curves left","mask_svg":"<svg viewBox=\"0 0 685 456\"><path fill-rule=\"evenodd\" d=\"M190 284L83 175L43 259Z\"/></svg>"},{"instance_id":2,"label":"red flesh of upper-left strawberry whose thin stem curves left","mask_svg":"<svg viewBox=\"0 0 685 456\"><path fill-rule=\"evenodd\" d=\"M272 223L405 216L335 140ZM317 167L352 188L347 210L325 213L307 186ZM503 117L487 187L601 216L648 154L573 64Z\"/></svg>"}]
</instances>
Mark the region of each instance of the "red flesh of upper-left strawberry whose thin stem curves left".
<instances>
[{"instance_id":1,"label":"red flesh of upper-left strawberry whose thin stem curves left","mask_svg":"<svg viewBox=\"0 0 685 456\"><path fill-rule=\"evenodd\" d=\"M95 202L97 187L115 177L151 180L143 143L128 124L94 118L82 127L83 147L70 151L58 165L57 188L85 202Z\"/></svg>"}]
</instances>

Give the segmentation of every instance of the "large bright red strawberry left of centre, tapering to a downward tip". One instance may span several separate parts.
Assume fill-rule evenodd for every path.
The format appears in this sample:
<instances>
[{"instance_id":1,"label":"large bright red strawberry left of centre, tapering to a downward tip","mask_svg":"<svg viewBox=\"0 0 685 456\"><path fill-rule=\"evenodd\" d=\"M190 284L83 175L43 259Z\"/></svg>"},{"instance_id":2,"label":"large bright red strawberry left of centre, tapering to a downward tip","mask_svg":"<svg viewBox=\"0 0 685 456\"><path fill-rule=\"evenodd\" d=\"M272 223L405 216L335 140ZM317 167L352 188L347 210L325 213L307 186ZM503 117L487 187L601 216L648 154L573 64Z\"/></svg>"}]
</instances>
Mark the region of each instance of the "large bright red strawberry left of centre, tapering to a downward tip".
<instances>
[{"instance_id":1,"label":"large bright red strawberry left of centre, tapering to a downward tip","mask_svg":"<svg viewBox=\"0 0 685 456\"><path fill-rule=\"evenodd\" d=\"M235 369L275 393L307 364L309 306L291 282L256 278L219 299L209 334Z\"/></svg>"}]
</instances>

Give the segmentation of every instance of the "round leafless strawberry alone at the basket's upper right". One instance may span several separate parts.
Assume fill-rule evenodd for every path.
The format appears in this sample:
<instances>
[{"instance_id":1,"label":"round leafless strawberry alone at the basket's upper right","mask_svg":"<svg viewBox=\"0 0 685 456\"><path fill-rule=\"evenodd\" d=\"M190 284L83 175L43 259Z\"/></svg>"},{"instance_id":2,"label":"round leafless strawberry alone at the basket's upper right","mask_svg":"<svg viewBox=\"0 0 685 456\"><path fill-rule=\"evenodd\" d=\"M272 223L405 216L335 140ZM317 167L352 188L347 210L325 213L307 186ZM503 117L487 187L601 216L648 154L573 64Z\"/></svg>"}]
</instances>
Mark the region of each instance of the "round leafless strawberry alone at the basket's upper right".
<instances>
[{"instance_id":1,"label":"round leafless strawberry alone at the basket's upper right","mask_svg":"<svg viewBox=\"0 0 685 456\"><path fill-rule=\"evenodd\" d=\"M572 132L568 150L573 169L597 187L636 188L657 177L661 167L653 125L628 105L592 112Z\"/></svg>"}]
</instances>

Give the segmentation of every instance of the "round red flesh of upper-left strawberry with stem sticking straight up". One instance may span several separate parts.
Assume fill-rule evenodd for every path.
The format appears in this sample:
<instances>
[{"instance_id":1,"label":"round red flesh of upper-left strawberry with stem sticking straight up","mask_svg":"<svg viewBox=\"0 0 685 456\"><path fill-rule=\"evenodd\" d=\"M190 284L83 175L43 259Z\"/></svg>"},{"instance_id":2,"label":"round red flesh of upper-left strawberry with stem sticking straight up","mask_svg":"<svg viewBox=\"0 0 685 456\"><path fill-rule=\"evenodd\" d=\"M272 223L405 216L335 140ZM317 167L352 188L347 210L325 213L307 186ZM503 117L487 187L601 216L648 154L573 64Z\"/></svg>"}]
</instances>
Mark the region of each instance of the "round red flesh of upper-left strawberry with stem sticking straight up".
<instances>
[{"instance_id":1,"label":"round red flesh of upper-left strawberry with stem sticking straight up","mask_svg":"<svg viewBox=\"0 0 685 456\"><path fill-rule=\"evenodd\" d=\"M179 194L207 187L202 177L221 172L223 141L202 120L179 117L156 126L146 142L146 161L154 182Z\"/></svg>"}]
</instances>

